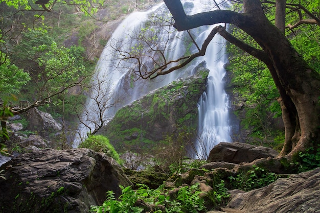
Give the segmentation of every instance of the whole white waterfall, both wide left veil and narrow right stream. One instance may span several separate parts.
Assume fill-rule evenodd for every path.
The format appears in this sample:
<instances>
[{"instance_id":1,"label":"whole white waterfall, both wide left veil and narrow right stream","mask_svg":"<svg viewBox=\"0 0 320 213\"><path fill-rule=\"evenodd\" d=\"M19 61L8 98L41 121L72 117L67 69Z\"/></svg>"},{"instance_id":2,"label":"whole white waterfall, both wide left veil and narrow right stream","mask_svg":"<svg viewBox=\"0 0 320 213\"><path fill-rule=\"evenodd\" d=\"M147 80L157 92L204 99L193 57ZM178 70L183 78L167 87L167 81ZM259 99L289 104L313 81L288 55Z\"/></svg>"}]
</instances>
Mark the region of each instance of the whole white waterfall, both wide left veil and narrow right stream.
<instances>
[{"instance_id":1,"label":"whole white waterfall, both wide left veil and narrow right stream","mask_svg":"<svg viewBox=\"0 0 320 213\"><path fill-rule=\"evenodd\" d=\"M189 15L213 10L210 0L189 0L182 1L182 3L184 4L186 13ZM166 17L169 14L164 3L158 4L148 11L130 14L123 20L116 31L113 32L96 67L96 74L93 78L93 85L95 85L95 87L90 91L91 98L87 100L86 110L82 115L82 119L87 122L85 125L80 124L78 127L79 132L81 132L81 138L85 137L89 128L95 129L97 123L99 123L99 119L101 119L99 109L101 111L101 108L104 107L103 116L111 118L119 108L142 97L147 92L167 85L178 78L190 76L193 74L193 68L205 60L207 62L207 68L210 69L210 74L208 77L207 90L202 94L198 104L198 132L202 134L199 134L197 143L195 144L196 153L194 156L200 158L204 156L203 152L206 152L207 155L209 154L208 150L210 151L212 148L212 143L210 143L209 140L217 142L230 141L228 98L223 89L224 83L222 80L225 75L223 64L226 62L226 58L224 55L223 42L221 39L219 40L218 35L216 35L214 40L209 44L205 56L194 59L188 67L181 68L169 75L159 76L152 81L136 79L134 79L136 81L133 81L132 78L136 78L136 76L132 74L132 68L134 68L132 61L123 61L119 58L119 52L117 52L116 49L123 50L123 53L130 52L134 46L140 45L140 41L135 39L135 37L144 29L148 21L152 20L154 16ZM197 44L202 45L202 41L213 28L214 26L203 26L190 30L190 33L196 38ZM195 53L197 51L195 45L191 47L188 46L188 44L191 43L191 39L187 32L177 32L172 26L155 27L155 30L152 32L155 32L157 44L159 46L166 46L167 51L165 51L164 55L168 60L184 56L186 52ZM168 40L170 40L169 43L167 42ZM145 45L143 49L143 55L158 57L157 55L152 55L152 46ZM149 69L154 66L147 60L142 62ZM101 91L107 92L101 96ZM116 103L116 106L108 107L107 104L110 103ZM74 147L79 145L79 138L75 140ZM205 141L204 139L206 138L209 140ZM206 145L205 148L203 144ZM197 155L197 153L202 154Z\"/></svg>"}]
</instances>

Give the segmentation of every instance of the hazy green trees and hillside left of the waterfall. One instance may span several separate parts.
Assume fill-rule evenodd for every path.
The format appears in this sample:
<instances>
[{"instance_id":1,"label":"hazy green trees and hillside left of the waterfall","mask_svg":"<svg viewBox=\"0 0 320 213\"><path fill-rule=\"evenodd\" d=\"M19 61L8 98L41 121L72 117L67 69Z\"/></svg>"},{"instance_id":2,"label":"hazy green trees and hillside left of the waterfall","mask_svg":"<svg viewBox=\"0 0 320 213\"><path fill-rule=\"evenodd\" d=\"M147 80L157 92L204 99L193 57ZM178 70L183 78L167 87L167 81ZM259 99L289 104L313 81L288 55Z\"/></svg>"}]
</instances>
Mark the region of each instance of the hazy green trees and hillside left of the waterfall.
<instances>
[{"instance_id":1,"label":"hazy green trees and hillside left of the waterfall","mask_svg":"<svg viewBox=\"0 0 320 213\"><path fill-rule=\"evenodd\" d=\"M111 35L97 36L97 25L146 4L102 3L55 1L44 5L52 10L47 12L32 1L0 1L2 121L37 107L62 121L63 132L76 128L86 100L84 92L92 84L96 61ZM2 124L0 136L4 142L8 133L6 122Z\"/></svg>"}]
</instances>

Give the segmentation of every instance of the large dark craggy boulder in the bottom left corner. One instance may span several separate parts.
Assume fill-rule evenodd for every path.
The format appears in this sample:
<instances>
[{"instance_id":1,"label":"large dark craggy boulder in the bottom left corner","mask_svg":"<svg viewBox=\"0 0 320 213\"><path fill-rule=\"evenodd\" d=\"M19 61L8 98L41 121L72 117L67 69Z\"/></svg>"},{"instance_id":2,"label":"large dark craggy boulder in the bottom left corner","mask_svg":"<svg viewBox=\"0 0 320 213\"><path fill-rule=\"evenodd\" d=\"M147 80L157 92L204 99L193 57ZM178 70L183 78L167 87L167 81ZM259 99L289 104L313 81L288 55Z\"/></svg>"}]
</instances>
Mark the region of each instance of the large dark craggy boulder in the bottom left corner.
<instances>
[{"instance_id":1,"label":"large dark craggy boulder in the bottom left corner","mask_svg":"<svg viewBox=\"0 0 320 213\"><path fill-rule=\"evenodd\" d=\"M0 167L2 212L89 212L107 191L132 185L120 165L90 149L44 149L21 154Z\"/></svg>"}]
</instances>

